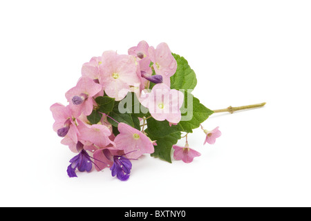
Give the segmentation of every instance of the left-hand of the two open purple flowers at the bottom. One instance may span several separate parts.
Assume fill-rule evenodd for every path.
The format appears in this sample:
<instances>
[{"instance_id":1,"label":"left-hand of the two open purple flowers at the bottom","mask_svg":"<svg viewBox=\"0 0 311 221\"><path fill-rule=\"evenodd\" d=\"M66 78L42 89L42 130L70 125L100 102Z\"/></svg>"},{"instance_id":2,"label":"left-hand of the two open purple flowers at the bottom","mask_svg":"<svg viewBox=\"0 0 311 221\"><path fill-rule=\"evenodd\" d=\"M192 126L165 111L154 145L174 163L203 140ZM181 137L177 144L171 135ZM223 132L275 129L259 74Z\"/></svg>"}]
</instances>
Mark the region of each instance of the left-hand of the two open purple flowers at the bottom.
<instances>
[{"instance_id":1,"label":"left-hand of the two open purple flowers at the bottom","mask_svg":"<svg viewBox=\"0 0 311 221\"><path fill-rule=\"evenodd\" d=\"M92 169L91 157L86 151L84 151L83 146L84 145L81 142L77 142L77 151L79 154L69 161L71 163L67 168L69 177L77 177L77 174L75 173L77 169L80 172L90 172Z\"/></svg>"}]
</instances>

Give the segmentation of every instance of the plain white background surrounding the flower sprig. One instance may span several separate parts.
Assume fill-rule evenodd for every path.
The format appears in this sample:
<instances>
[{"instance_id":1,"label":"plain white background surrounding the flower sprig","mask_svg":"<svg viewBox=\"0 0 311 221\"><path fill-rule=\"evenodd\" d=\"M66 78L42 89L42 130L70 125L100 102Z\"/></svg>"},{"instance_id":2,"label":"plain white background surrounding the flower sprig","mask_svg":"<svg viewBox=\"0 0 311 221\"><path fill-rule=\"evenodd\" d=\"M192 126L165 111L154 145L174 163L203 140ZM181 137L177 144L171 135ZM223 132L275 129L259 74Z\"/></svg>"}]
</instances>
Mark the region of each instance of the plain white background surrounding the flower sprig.
<instances>
[{"instance_id":1,"label":"plain white background surrounding the flower sprig","mask_svg":"<svg viewBox=\"0 0 311 221\"><path fill-rule=\"evenodd\" d=\"M1 1L0 206L311 206L310 1ZM84 62L145 40L169 44L196 72L215 114L214 146L169 164L145 155L130 180L66 174L75 154L53 131ZM178 144L183 145L184 141Z\"/></svg>"}]
</instances>

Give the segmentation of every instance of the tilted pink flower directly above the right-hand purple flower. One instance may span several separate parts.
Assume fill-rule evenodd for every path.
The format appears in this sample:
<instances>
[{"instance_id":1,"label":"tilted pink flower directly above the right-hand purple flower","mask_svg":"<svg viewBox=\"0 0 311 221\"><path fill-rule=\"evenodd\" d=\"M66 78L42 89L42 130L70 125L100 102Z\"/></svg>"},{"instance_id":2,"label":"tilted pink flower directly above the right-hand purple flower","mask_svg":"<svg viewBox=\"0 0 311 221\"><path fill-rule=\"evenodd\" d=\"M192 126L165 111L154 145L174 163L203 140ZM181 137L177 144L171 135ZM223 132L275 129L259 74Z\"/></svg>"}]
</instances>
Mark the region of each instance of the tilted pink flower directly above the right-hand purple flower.
<instances>
[{"instance_id":1,"label":"tilted pink flower directly above the right-hand purple flower","mask_svg":"<svg viewBox=\"0 0 311 221\"><path fill-rule=\"evenodd\" d=\"M117 149L128 153L127 157L138 158L144 153L154 152L153 142L144 133L124 123L120 123L117 130L120 134L115 137L115 145Z\"/></svg>"}]
</instances>

